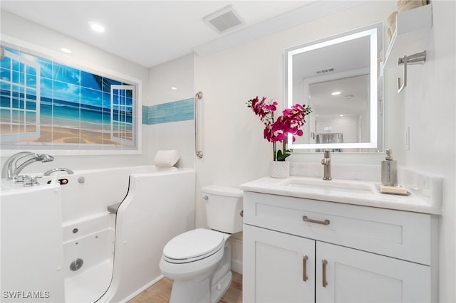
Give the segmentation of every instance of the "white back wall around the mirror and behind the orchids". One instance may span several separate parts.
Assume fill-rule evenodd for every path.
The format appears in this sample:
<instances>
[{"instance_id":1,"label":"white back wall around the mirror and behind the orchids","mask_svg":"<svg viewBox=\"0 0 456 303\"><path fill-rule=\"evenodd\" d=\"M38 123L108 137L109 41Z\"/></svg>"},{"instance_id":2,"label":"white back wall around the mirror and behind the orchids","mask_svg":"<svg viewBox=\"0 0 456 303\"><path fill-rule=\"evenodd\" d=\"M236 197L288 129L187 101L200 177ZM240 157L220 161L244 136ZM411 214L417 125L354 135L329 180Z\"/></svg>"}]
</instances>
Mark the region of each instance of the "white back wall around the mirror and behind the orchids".
<instances>
[{"instance_id":1,"label":"white back wall around the mirror and behind the orchids","mask_svg":"<svg viewBox=\"0 0 456 303\"><path fill-rule=\"evenodd\" d=\"M206 156L197 161L201 183L238 186L267 174L271 144L263 139L263 124L245 102L259 95L274 98L281 106L284 48L385 21L393 10L395 1L372 1L213 55L197 56L196 90L202 90L206 99L204 139L217 142L207 143ZM321 155L290 158L319 161ZM335 154L333 160L379 164L382 158L377 154Z\"/></svg>"}]
</instances>

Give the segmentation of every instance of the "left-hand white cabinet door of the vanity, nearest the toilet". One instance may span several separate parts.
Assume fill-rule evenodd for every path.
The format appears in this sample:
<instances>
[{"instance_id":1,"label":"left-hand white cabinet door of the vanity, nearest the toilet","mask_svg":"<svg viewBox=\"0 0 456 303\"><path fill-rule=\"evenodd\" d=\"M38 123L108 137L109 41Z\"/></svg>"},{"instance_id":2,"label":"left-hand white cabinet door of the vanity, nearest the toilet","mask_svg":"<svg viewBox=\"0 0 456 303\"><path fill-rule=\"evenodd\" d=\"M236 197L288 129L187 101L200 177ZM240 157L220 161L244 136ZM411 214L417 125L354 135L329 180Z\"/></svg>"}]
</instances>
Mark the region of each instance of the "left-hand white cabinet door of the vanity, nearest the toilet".
<instances>
[{"instance_id":1,"label":"left-hand white cabinet door of the vanity, nearest the toilet","mask_svg":"<svg viewBox=\"0 0 456 303\"><path fill-rule=\"evenodd\" d=\"M244 224L243 246L244 303L315 302L315 240Z\"/></svg>"}]
</instances>

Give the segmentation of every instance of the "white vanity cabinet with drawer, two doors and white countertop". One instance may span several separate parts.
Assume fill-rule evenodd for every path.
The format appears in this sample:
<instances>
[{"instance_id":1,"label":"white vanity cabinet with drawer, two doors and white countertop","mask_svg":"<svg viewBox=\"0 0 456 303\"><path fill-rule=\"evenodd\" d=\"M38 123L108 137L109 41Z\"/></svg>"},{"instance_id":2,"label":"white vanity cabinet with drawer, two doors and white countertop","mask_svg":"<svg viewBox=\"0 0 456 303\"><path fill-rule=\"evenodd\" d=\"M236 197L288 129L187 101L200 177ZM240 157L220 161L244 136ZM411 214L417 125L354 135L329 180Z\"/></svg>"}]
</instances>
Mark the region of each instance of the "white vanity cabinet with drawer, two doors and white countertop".
<instances>
[{"instance_id":1,"label":"white vanity cabinet with drawer, two doors and white countertop","mask_svg":"<svg viewBox=\"0 0 456 303\"><path fill-rule=\"evenodd\" d=\"M438 191L377 183L242 184L243 302L437 302Z\"/></svg>"}]
</instances>

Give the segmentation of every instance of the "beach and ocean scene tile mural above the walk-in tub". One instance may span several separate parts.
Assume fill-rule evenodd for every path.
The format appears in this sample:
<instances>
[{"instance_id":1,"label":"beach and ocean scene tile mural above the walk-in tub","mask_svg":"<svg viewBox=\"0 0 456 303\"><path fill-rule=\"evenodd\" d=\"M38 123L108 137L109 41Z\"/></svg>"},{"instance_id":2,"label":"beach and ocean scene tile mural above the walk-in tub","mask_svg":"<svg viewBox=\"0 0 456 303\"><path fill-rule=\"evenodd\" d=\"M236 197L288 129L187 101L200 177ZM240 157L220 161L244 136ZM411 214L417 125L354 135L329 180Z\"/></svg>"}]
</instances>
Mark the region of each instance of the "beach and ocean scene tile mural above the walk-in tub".
<instances>
[{"instance_id":1,"label":"beach and ocean scene tile mural above the walk-in tub","mask_svg":"<svg viewBox=\"0 0 456 303\"><path fill-rule=\"evenodd\" d=\"M0 59L2 146L136 147L137 83L3 46Z\"/></svg>"}]
</instances>

